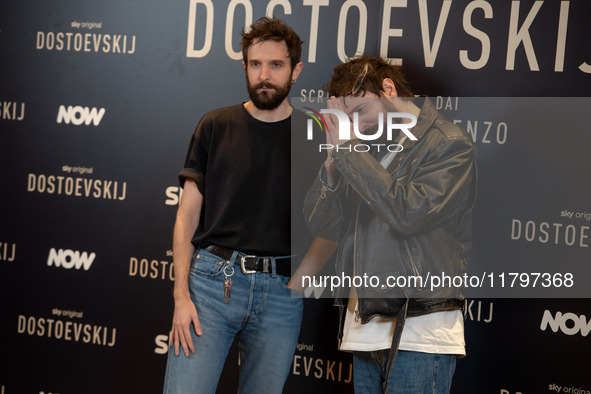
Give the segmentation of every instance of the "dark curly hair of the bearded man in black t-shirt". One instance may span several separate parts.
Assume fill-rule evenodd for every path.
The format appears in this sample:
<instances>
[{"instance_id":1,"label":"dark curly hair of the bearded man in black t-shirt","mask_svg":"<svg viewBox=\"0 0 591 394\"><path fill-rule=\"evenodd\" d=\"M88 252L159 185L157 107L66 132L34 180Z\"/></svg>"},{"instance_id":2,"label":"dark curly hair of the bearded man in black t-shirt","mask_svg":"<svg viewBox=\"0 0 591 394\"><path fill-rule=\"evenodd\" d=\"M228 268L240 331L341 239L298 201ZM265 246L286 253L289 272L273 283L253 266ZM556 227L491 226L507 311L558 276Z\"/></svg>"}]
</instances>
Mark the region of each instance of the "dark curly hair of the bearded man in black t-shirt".
<instances>
[{"instance_id":1,"label":"dark curly hair of the bearded man in black t-shirt","mask_svg":"<svg viewBox=\"0 0 591 394\"><path fill-rule=\"evenodd\" d=\"M304 43L300 36L289 26L279 19L269 18L264 16L258 21L250 25L248 32L242 29L242 58L244 63L248 64L248 47L252 45L255 40L259 41L285 41L287 45L287 52L291 59L291 69L300 62L302 56L302 44Z\"/></svg>"}]
</instances>

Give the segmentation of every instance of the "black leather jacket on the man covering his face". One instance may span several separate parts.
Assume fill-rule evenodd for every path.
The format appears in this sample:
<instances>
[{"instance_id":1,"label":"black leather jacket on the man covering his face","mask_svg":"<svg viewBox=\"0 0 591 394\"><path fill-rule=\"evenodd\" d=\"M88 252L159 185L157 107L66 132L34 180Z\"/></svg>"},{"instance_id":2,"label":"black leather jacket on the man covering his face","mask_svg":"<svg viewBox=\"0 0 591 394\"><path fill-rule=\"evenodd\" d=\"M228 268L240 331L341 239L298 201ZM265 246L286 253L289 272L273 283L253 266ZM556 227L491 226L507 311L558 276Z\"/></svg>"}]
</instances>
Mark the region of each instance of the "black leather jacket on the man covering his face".
<instances>
[{"instance_id":1,"label":"black leather jacket on the man covering his face","mask_svg":"<svg viewBox=\"0 0 591 394\"><path fill-rule=\"evenodd\" d=\"M373 316L394 317L399 299L409 299L407 315L461 309L458 287L389 287L388 276L462 276L472 247L476 198L475 148L470 135L449 122L428 98L404 149L385 169L387 152L333 151L341 173L331 189L324 167L308 191L304 216L312 233L339 242L336 273L367 274L380 286L357 288L362 323ZM342 146L360 143L351 140ZM374 282L375 283L375 282ZM344 299L349 288L339 288ZM397 300L398 298L398 300Z\"/></svg>"}]
</instances>

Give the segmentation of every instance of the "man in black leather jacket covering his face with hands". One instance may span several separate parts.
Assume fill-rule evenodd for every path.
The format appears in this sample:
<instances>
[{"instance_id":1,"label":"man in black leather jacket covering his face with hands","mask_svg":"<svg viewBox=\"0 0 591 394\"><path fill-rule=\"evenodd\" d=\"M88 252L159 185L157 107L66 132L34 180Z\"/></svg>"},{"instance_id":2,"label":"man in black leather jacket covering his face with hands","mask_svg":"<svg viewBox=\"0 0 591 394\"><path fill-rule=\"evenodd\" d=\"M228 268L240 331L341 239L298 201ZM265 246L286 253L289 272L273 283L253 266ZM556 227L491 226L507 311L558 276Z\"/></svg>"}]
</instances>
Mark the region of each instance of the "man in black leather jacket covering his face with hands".
<instances>
[{"instance_id":1,"label":"man in black leather jacket covering his face with hands","mask_svg":"<svg viewBox=\"0 0 591 394\"><path fill-rule=\"evenodd\" d=\"M339 65L327 90L323 113L330 113L332 149L304 215L316 236L339 242L336 275L366 278L334 294L345 312L339 342L354 354L355 391L449 392L456 357L465 355L463 294L457 282L435 287L429 278L466 273L476 197L473 141L428 98L413 98L400 67L379 57ZM339 111L352 121L349 138ZM400 130L390 140L382 132L386 112L407 118L394 125Z\"/></svg>"}]
</instances>

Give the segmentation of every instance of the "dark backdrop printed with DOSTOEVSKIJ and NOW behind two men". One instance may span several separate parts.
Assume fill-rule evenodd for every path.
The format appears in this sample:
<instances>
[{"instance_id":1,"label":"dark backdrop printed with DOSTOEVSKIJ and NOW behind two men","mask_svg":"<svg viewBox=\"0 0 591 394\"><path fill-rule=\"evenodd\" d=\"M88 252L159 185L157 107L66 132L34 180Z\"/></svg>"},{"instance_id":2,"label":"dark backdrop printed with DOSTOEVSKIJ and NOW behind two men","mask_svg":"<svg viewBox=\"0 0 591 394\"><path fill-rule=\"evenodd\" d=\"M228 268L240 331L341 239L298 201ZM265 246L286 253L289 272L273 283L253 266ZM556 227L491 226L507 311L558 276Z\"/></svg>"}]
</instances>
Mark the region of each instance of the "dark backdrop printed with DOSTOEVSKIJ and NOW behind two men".
<instances>
[{"instance_id":1,"label":"dark backdrop printed with DOSTOEVSKIJ and NOW behind two men","mask_svg":"<svg viewBox=\"0 0 591 394\"><path fill-rule=\"evenodd\" d=\"M590 393L591 3L55 0L0 8L0 394L161 392L176 174L201 116L248 100L239 32L264 15L305 41L292 99L379 54L476 143L497 289L466 300L452 392ZM321 293L285 393L353 392ZM233 348L219 393L237 371Z\"/></svg>"}]
</instances>

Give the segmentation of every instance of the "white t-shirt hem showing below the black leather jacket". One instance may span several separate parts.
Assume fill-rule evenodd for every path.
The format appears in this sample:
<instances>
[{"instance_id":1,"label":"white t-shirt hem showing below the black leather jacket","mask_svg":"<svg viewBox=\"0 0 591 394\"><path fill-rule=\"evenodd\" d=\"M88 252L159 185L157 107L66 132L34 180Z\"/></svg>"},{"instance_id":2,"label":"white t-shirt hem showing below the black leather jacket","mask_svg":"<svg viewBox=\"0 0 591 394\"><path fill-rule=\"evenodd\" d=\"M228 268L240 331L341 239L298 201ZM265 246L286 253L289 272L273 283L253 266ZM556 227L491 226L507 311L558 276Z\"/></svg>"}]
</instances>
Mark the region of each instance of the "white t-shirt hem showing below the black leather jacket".
<instances>
[{"instance_id":1,"label":"white t-shirt hem showing below the black leather jacket","mask_svg":"<svg viewBox=\"0 0 591 394\"><path fill-rule=\"evenodd\" d=\"M340 350L364 351L390 349L395 319L375 316L367 324L355 318L357 297L354 289L347 305ZM404 323L400 350L465 356L464 318L460 310L434 312L409 317Z\"/></svg>"}]
</instances>

